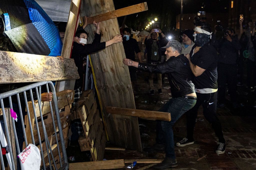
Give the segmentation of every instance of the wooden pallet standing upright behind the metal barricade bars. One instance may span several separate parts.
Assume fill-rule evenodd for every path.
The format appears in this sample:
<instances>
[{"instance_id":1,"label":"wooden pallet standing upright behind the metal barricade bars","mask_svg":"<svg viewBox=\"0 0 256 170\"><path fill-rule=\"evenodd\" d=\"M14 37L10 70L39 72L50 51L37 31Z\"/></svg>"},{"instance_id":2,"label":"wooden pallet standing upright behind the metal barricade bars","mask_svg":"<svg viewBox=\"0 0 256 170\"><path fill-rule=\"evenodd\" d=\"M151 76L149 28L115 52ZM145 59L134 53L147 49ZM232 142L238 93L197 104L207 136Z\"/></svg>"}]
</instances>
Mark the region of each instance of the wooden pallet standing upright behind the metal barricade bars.
<instances>
[{"instance_id":1,"label":"wooden pallet standing upright behind the metal barricade bars","mask_svg":"<svg viewBox=\"0 0 256 170\"><path fill-rule=\"evenodd\" d=\"M63 137L65 140L65 147L67 147L68 129L69 129L69 125L70 125L70 116L71 116L70 110L71 110L72 103L74 101L74 90L60 91L60 92L56 93L56 96L57 96L58 108L61 110L59 114L60 114ZM38 127L39 127L41 142L42 142L42 148L44 151L44 159L45 159L45 163L47 165L47 164L49 164L49 160L48 160L47 150L46 150L46 146L45 146L46 143L44 141L44 132L42 129L42 122L41 122L41 118L40 118L38 101L34 101L34 105L35 105L35 109L36 109L36 119L38 121ZM57 141L56 141L55 132L54 132L53 120L52 120L52 116L51 116L51 112L50 112L50 104L49 104L49 102L41 102L42 115L43 115L44 124L46 127L47 136L48 136L48 139L49 139L49 142L51 145L51 150L55 157L55 162L59 163L60 160L59 160L59 156L58 156L57 142L59 143L60 152L61 152L61 144L60 144L60 138L59 138L59 133L58 133L59 130L58 130L58 125L57 125L57 121L56 121L55 109L53 106L53 102L52 102L52 109L54 112L54 122L55 122L55 126L56 126L57 139L58 139ZM30 120L31 120L31 124L32 124L35 144L36 144L36 146L38 146L38 148L40 150L32 101L28 102L28 110L30 113ZM26 125L25 131L26 131L27 141L28 141L28 143L32 143L32 137L31 137L31 133L30 133L30 127L29 127L27 115L25 116L25 125ZM23 144L23 149L24 148L25 148L25 142ZM62 152L61 152L61 156L62 156ZM51 158L51 156L50 156L50 158ZM51 163L52 163L52 158L51 158Z\"/></svg>"}]
</instances>

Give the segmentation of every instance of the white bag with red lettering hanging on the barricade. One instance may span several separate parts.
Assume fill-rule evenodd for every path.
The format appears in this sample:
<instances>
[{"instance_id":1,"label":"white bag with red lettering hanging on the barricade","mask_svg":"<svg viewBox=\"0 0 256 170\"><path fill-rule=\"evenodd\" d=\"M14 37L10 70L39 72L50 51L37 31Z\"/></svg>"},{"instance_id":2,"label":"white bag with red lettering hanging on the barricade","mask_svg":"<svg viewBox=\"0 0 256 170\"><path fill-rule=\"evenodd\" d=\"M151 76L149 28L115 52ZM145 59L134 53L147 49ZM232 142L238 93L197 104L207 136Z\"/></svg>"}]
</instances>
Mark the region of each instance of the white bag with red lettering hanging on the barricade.
<instances>
[{"instance_id":1,"label":"white bag with red lettering hanging on the barricade","mask_svg":"<svg viewBox=\"0 0 256 170\"><path fill-rule=\"evenodd\" d=\"M39 149L35 145L29 144L22 152L20 152L18 157L20 159L21 169L40 170L41 156Z\"/></svg>"}]
</instances>

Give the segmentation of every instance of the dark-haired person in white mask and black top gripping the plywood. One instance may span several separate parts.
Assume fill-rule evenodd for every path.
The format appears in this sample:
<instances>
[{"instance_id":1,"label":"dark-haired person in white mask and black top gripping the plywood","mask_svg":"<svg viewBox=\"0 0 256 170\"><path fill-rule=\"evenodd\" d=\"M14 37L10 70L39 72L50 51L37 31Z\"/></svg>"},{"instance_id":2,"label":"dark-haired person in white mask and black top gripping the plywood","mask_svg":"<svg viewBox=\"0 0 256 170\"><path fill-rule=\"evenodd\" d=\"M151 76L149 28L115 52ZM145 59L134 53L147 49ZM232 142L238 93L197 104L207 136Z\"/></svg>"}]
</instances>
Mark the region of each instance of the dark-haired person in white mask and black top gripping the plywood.
<instances>
[{"instance_id":1,"label":"dark-haired person in white mask and black top gripping the plywood","mask_svg":"<svg viewBox=\"0 0 256 170\"><path fill-rule=\"evenodd\" d=\"M84 28L87 26L87 19L85 19L83 27L80 27L78 31L75 34L74 38L74 43L73 43L73 49L72 49L72 54L71 58L74 59L75 64L78 68L78 73L80 78L76 80L75 87L74 89L80 89L81 93L81 88L83 86L83 74L84 74L84 68L83 68L83 63L84 63L84 57L91 53L95 53L99 50L102 50L112 44L122 42L122 36L121 35L116 35L114 36L113 39L106 41L106 42L100 42L101 41L101 33L100 33L100 22L95 22L93 21L94 26L96 27L96 33L94 35L94 40L91 44L87 43L88 40L88 33L84 31Z\"/></svg>"}]
</instances>

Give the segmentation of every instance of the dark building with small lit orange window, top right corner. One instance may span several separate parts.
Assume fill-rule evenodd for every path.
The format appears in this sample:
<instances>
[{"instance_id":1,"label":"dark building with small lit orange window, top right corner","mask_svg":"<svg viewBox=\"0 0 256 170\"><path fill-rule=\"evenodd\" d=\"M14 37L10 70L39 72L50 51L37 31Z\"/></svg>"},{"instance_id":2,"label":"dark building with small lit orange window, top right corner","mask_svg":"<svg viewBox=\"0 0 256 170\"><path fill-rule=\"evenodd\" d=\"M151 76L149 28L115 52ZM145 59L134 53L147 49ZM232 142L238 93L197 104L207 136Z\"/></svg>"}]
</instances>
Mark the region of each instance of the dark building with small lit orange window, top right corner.
<instances>
[{"instance_id":1,"label":"dark building with small lit orange window, top right corner","mask_svg":"<svg viewBox=\"0 0 256 170\"><path fill-rule=\"evenodd\" d=\"M239 30L239 17L243 14L244 26L251 20L256 21L256 1L255 0L233 0L229 1L228 27Z\"/></svg>"}]
</instances>

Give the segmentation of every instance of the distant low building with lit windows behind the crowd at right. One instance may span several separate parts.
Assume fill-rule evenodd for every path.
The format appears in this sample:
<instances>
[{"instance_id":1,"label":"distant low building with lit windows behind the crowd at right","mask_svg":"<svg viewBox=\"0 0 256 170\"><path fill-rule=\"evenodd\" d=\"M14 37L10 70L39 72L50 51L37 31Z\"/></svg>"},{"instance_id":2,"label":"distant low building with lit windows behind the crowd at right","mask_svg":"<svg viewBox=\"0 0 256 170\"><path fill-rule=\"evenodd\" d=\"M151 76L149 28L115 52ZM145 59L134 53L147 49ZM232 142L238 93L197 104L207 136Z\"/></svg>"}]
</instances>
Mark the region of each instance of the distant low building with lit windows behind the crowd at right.
<instances>
[{"instance_id":1,"label":"distant low building with lit windows behind the crowd at right","mask_svg":"<svg viewBox=\"0 0 256 170\"><path fill-rule=\"evenodd\" d=\"M193 29L195 26L193 24L195 17L199 17L200 19L206 18L206 22L209 22L212 27L212 31L214 31L215 25L218 25L217 21L219 20L222 27L228 27L228 13L207 13L205 11L205 15L198 16L197 14L183 14L182 15L182 30ZM180 14L176 16L176 28L180 28Z\"/></svg>"}]
</instances>

